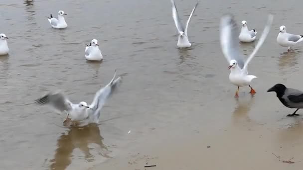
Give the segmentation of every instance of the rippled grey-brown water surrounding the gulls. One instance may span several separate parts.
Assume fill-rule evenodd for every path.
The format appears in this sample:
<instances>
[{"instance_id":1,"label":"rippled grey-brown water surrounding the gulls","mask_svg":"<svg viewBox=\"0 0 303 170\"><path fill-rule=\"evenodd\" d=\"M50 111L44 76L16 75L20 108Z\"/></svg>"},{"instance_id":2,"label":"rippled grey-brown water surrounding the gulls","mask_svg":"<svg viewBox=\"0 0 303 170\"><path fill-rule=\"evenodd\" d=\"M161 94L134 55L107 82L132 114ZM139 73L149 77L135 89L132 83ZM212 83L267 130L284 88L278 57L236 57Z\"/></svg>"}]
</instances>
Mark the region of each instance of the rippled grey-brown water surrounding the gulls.
<instances>
[{"instance_id":1,"label":"rippled grey-brown water surrounding the gulls","mask_svg":"<svg viewBox=\"0 0 303 170\"><path fill-rule=\"evenodd\" d=\"M184 23L194 3L176 0ZM302 5L300 0L201 0L188 30L193 46L179 50L169 0L1 0L0 32L9 37L10 49L0 57L1 169L84 170L127 152L154 131L167 137L195 129L210 133L237 126L240 118L273 130L293 127L300 118L286 118L293 110L266 90L276 83L303 89L302 47L286 53L276 43L282 24L302 33ZM67 29L52 29L45 17L58 10L68 14ZM219 19L228 12L239 25L247 20L256 28L257 39L267 14L275 14L249 66L258 77L253 98L248 87L240 89L239 100L233 98L236 87L228 80L218 32ZM93 38L99 40L102 63L84 58L84 43ZM241 44L241 50L250 54L254 44ZM115 69L123 84L102 110L99 126L64 128L62 116L32 104L57 88L74 102L91 102Z\"/></svg>"}]
</instances>

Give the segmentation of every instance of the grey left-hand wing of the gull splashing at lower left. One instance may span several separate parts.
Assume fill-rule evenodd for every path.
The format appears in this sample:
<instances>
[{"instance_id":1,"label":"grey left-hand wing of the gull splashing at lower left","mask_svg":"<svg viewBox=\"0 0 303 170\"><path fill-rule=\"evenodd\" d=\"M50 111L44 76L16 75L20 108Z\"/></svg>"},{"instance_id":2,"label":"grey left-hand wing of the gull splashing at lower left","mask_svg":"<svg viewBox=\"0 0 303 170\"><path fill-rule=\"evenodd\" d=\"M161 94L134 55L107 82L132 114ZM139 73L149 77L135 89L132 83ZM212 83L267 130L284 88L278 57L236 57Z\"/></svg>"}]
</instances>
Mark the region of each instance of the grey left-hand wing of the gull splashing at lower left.
<instances>
[{"instance_id":1,"label":"grey left-hand wing of the gull splashing at lower left","mask_svg":"<svg viewBox=\"0 0 303 170\"><path fill-rule=\"evenodd\" d=\"M60 91L50 92L43 97L36 99L35 103L40 105L50 104L61 112L69 112L72 109L72 102L70 102L67 97Z\"/></svg>"}]
</instances>

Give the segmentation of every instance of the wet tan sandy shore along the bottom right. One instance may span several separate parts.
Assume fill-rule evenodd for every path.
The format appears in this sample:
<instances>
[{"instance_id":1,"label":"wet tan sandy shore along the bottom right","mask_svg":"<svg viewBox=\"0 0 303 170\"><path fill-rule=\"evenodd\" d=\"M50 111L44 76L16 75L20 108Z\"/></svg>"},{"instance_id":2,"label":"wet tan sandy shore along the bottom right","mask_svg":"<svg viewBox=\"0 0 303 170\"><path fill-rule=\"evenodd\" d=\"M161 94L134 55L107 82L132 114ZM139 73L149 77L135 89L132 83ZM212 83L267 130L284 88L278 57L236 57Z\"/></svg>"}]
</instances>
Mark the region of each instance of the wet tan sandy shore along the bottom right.
<instances>
[{"instance_id":1,"label":"wet tan sandy shore along the bottom right","mask_svg":"<svg viewBox=\"0 0 303 170\"><path fill-rule=\"evenodd\" d=\"M196 131L182 135L182 139L171 137L156 143L145 139L138 142L136 147L133 146L128 153L89 170L299 170L302 168L303 124L300 121L289 128L278 130L265 125L256 125L253 122L246 123L243 121L240 126L232 125L206 136ZM152 137L158 135L153 134ZM280 159L273 154L280 156ZM283 163L290 159L294 164ZM147 163L156 167L144 168Z\"/></svg>"}]
</instances>

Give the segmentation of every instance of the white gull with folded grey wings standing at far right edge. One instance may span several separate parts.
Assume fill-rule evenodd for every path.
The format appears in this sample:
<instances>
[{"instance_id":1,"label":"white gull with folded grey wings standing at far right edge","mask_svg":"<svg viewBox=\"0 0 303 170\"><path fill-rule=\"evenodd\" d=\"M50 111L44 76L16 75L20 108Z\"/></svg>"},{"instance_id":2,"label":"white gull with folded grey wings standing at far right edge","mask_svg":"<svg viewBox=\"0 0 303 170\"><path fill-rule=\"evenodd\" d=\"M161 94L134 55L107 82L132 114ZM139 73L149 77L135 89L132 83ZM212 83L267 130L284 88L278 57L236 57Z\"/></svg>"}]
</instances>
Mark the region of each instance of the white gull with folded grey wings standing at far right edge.
<instances>
[{"instance_id":1,"label":"white gull with folded grey wings standing at far right edge","mask_svg":"<svg viewBox=\"0 0 303 170\"><path fill-rule=\"evenodd\" d=\"M280 32L277 37L277 42L282 47L288 47L287 51L291 51L292 46L303 41L303 35L294 35L286 32L286 26L280 26Z\"/></svg>"}]
</instances>

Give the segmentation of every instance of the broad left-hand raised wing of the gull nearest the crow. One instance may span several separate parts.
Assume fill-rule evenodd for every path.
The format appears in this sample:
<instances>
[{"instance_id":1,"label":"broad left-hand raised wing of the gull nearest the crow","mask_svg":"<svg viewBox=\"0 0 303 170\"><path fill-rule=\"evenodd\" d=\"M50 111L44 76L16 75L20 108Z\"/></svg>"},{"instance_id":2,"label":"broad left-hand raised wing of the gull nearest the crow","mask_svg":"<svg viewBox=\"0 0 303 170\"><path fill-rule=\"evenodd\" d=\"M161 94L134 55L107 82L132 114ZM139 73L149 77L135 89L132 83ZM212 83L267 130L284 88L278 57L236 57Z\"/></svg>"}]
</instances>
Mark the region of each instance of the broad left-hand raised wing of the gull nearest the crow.
<instances>
[{"instance_id":1,"label":"broad left-hand raised wing of the gull nearest the crow","mask_svg":"<svg viewBox=\"0 0 303 170\"><path fill-rule=\"evenodd\" d=\"M239 67L244 67L244 60L239 53L238 26L232 16L226 15L221 18L220 43L224 57L228 62L236 60Z\"/></svg>"}]
</instances>

